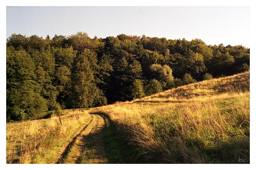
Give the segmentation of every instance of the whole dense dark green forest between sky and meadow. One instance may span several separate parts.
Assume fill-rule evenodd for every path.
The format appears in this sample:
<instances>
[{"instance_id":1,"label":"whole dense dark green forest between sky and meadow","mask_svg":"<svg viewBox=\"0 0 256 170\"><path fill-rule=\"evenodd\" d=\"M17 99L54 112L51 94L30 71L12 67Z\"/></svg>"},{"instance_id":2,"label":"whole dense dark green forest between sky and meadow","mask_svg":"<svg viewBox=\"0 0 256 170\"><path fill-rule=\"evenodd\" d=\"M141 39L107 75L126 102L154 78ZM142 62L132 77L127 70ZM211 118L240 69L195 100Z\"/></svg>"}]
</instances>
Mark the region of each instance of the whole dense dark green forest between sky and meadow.
<instances>
[{"instance_id":1,"label":"whole dense dark green forest between sky and meadow","mask_svg":"<svg viewBox=\"0 0 256 170\"><path fill-rule=\"evenodd\" d=\"M250 69L250 48L200 39L128 36L6 40L6 121L60 108L102 106Z\"/></svg>"}]
</instances>

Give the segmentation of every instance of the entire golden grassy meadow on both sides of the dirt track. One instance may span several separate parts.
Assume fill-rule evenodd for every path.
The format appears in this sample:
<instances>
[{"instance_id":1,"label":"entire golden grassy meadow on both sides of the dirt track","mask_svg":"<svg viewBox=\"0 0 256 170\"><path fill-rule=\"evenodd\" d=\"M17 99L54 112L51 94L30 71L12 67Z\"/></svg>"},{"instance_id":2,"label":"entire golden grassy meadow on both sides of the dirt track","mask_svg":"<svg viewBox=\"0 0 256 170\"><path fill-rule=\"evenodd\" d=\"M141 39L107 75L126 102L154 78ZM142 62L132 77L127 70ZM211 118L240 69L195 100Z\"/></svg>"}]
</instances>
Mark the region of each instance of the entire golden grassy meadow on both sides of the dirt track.
<instances>
[{"instance_id":1,"label":"entire golden grassy meadow on both sides of the dirt track","mask_svg":"<svg viewBox=\"0 0 256 170\"><path fill-rule=\"evenodd\" d=\"M112 130L118 130L129 145L125 147L129 161L122 159L122 163L250 163L250 72L85 112L62 110L62 126L54 115L6 124L6 163L57 163L72 141L79 147L75 136L90 128L93 114L98 113L118 127ZM102 132L112 135L110 130ZM78 163L109 163L90 161L88 152L83 150ZM72 162L72 154L70 149L64 163Z\"/></svg>"}]
</instances>

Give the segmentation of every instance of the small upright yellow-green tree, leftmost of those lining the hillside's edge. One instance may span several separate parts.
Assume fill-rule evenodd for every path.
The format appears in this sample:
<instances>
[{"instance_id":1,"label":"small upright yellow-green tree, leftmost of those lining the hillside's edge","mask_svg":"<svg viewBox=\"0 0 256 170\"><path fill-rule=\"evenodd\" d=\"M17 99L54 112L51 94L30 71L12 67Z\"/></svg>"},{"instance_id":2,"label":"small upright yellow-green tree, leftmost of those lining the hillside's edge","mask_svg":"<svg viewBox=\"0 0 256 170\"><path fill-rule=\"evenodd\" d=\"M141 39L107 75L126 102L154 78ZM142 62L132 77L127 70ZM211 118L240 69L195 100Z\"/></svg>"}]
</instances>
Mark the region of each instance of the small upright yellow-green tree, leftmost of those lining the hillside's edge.
<instances>
[{"instance_id":1,"label":"small upright yellow-green tree, leftmost of those lining the hillside's edge","mask_svg":"<svg viewBox=\"0 0 256 170\"><path fill-rule=\"evenodd\" d=\"M131 86L131 95L133 99L140 99L145 96L143 83L139 79L135 79Z\"/></svg>"}]
</instances>

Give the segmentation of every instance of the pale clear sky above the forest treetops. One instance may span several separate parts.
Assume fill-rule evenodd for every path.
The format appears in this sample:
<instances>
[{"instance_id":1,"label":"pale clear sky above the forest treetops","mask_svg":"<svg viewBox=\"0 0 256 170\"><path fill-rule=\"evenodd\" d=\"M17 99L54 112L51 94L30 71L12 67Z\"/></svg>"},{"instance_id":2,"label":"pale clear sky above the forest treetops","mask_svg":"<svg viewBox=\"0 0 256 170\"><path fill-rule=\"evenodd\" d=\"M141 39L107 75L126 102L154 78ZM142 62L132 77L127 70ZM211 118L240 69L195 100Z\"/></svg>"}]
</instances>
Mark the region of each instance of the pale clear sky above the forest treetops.
<instances>
[{"instance_id":1,"label":"pale clear sky above the forest treetops","mask_svg":"<svg viewBox=\"0 0 256 170\"><path fill-rule=\"evenodd\" d=\"M243 6L57 6L6 7L6 38L12 33L52 38L78 31L100 38L126 35L194 38L206 44L250 47L250 7Z\"/></svg>"}]
</instances>

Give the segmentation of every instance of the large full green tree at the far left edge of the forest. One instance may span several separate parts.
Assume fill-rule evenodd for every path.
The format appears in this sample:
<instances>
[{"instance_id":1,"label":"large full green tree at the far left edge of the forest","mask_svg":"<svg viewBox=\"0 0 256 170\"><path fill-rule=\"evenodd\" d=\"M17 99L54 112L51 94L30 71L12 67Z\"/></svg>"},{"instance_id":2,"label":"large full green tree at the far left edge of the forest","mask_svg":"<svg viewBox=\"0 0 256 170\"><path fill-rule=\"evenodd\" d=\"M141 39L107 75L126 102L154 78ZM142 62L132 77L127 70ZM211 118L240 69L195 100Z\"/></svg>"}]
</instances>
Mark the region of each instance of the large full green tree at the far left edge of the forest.
<instances>
[{"instance_id":1,"label":"large full green tree at the far left edge of the forest","mask_svg":"<svg viewBox=\"0 0 256 170\"><path fill-rule=\"evenodd\" d=\"M25 50L6 50L6 120L27 120L47 111L35 64Z\"/></svg>"}]
</instances>

